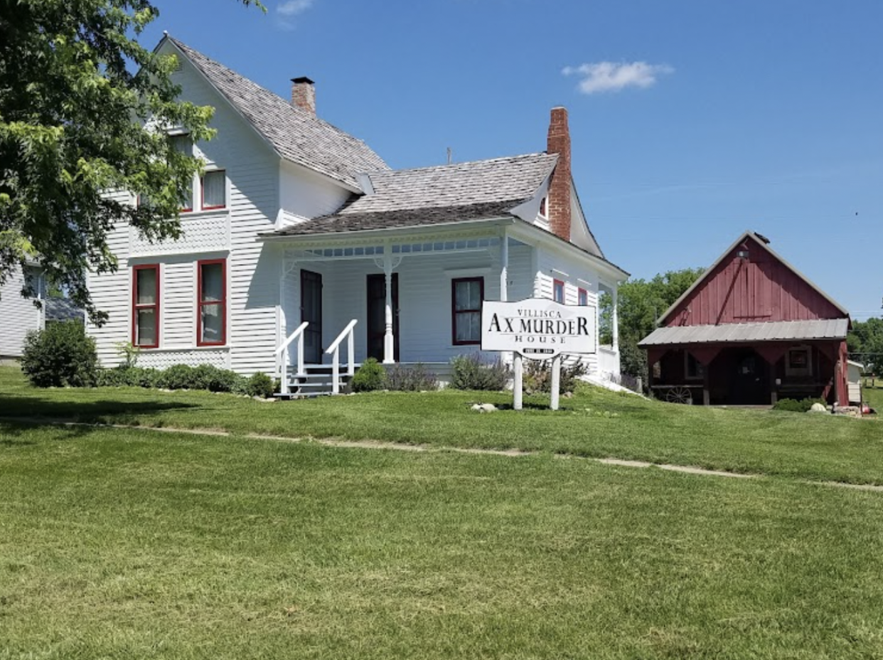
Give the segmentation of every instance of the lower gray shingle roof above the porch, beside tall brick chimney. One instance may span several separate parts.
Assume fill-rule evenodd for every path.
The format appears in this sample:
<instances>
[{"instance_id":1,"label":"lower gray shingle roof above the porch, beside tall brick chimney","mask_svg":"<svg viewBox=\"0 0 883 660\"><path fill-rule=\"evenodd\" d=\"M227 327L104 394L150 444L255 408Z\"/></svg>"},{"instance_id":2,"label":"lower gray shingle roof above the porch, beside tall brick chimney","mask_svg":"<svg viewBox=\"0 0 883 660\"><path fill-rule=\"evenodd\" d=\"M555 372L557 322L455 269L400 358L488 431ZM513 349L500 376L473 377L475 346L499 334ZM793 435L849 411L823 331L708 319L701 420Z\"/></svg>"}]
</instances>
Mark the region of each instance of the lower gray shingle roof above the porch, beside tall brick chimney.
<instances>
[{"instance_id":1,"label":"lower gray shingle roof above the porch, beside tall brick chimney","mask_svg":"<svg viewBox=\"0 0 883 660\"><path fill-rule=\"evenodd\" d=\"M555 167L555 154L369 172L374 193L353 195L330 216L276 235L334 233L443 224L509 215L529 200Z\"/></svg>"}]
</instances>

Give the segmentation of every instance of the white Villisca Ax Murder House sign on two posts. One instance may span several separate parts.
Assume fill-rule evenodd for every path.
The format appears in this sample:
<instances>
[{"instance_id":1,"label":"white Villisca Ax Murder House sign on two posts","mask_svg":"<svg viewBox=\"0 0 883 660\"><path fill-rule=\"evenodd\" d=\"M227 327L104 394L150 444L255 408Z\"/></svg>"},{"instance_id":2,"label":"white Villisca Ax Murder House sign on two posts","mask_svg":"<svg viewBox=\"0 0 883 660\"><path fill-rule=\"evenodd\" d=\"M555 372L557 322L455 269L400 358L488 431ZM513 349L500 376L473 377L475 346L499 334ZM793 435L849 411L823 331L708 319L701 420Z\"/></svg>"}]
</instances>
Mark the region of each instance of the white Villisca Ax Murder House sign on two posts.
<instances>
[{"instance_id":1,"label":"white Villisca Ax Murder House sign on two posts","mask_svg":"<svg viewBox=\"0 0 883 660\"><path fill-rule=\"evenodd\" d=\"M596 353L598 309L528 298L518 302L486 300L481 305L481 350L512 351L515 383L512 407L522 408L522 359L552 360L552 410L558 409L561 356Z\"/></svg>"}]
</instances>

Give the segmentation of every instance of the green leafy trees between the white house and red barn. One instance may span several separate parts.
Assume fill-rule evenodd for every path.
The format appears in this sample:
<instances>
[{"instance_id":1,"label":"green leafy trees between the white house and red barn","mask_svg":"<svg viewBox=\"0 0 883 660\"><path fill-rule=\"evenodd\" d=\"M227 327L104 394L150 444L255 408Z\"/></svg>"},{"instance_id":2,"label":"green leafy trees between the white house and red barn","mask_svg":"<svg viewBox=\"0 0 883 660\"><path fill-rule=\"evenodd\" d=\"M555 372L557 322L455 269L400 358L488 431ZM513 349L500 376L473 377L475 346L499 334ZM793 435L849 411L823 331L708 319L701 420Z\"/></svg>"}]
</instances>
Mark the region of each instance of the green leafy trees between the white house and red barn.
<instances>
[{"instance_id":1,"label":"green leafy trees between the white house and red barn","mask_svg":"<svg viewBox=\"0 0 883 660\"><path fill-rule=\"evenodd\" d=\"M681 297L705 272L705 269L669 270L650 280L629 280L619 287L619 347L620 368L623 374L641 377L646 382L647 357L638 348L638 342L653 332L656 322L668 307ZM605 307L604 294L600 300L601 343L612 340L612 310Z\"/></svg>"}]
</instances>

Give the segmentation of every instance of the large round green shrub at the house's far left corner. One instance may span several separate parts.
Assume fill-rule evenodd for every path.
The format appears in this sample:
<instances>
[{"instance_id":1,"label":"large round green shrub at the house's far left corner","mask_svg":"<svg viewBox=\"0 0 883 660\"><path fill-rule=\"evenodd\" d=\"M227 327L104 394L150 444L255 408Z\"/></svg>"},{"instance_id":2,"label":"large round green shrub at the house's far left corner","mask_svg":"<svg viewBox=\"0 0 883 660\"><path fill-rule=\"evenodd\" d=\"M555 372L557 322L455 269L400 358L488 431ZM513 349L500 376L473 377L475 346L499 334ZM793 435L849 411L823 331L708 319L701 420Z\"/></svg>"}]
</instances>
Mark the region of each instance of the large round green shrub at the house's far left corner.
<instances>
[{"instance_id":1,"label":"large round green shrub at the house's far left corner","mask_svg":"<svg viewBox=\"0 0 883 660\"><path fill-rule=\"evenodd\" d=\"M25 338L21 369L35 387L92 387L98 369L95 341L78 321L32 330Z\"/></svg>"}]
</instances>

